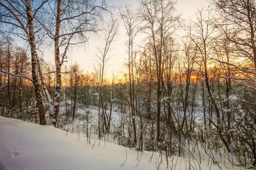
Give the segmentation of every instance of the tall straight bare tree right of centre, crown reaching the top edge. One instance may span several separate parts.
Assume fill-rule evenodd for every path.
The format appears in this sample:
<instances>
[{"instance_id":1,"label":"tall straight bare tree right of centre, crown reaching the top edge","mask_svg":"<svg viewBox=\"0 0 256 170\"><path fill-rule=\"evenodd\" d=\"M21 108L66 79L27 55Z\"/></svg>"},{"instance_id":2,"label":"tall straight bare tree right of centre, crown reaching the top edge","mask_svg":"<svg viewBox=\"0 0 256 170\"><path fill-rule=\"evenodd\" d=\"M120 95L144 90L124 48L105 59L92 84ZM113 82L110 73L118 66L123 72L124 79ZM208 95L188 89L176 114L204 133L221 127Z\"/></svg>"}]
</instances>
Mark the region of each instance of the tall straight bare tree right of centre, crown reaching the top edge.
<instances>
[{"instance_id":1,"label":"tall straight bare tree right of centre, crown reaching the top edge","mask_svg":"<svg viewBox=\"0 0 256 170\"><path fill-rule=\"evenodd\" d=\"M175 2L172 0L140 0L139 12L141 22L145 24L142 29L151 45L157 72L157 142L160 142L164 41L178 28L180 19L175 14Z\"/></svg>"}]
</instances>

